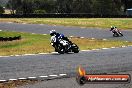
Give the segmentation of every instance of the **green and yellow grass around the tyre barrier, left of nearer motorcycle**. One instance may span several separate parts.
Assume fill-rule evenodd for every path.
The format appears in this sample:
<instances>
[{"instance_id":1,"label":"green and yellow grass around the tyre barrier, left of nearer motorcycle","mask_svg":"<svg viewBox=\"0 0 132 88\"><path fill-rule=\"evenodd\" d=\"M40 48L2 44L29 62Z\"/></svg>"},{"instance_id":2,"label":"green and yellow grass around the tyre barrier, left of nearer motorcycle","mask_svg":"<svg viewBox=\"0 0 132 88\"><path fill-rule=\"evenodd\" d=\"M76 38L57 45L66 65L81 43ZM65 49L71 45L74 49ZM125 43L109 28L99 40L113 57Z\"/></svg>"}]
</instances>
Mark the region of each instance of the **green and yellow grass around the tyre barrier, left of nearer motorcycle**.
<instances>
[{"instance_id":1,"label":"green and yellow grass around the tyre barrier, left of nearer motorcycle","mask_svg":"<svg viewBox=\"0 0 132 88\"><path fill-rule=\"evenodd\" d=\"M30 34L20 32L0 32L2 36L21 35L21 40L0 42L0 55L16 55L26 53L51 52L53 48L50 46L50 36L41 34Z\"/></svg>"}]
</instances>

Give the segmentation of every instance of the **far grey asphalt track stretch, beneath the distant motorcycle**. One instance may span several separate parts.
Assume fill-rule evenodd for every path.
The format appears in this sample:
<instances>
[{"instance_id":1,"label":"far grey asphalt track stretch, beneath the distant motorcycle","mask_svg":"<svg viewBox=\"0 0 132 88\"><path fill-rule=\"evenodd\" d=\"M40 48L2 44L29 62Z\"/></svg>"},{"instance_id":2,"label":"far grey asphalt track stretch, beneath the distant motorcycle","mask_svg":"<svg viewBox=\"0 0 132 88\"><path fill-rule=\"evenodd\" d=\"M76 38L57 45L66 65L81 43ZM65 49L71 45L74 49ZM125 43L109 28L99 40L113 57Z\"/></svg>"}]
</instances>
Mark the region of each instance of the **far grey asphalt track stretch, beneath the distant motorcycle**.
<instances>
[{"instance_id":1,"label":"far grey asphalt track stretch, beneath the distant motorcycle","mask_svg":"<svg viewBox=\"0 0 132 88\"><path fill-rule=\"evenodd\" d=\"M0 29L19 31L19 32L30 32L30 33L40 33L49 34L49 31L55 29L57 32L64 33L66 36L80 36L89 38L105 38L105 39L116 39L116 40L126 40L132 41L132 31L126 30L122 31L125 35L124 37L113 38L109 29L97 29L97 28L79 28L79 27L64 27L64 26L51 26L51 25L39 25L39 24L18 24L18 23L1 23ZM93 30L94 29L94 30Z\"/></svg>"}]
</instances>

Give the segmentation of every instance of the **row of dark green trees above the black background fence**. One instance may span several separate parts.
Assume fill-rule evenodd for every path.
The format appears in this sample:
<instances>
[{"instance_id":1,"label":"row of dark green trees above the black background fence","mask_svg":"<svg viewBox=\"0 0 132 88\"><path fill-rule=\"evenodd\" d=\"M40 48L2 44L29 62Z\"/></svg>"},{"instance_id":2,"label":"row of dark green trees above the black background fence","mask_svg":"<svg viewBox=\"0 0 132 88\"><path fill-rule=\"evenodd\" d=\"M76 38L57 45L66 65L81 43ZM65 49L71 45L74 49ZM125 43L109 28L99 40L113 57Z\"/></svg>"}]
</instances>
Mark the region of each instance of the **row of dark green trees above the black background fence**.
<instances>
[{"instance_id":1,"label":"row of dark green trees above the black background fence","mask_svg":"<svg viewBox=\"0 0 132 88\"><path fill-rule=\"evenodd\" d=\"M122 15L132 0L9 0L11 14L89 13Z\"/></svg>"}]
</instances>

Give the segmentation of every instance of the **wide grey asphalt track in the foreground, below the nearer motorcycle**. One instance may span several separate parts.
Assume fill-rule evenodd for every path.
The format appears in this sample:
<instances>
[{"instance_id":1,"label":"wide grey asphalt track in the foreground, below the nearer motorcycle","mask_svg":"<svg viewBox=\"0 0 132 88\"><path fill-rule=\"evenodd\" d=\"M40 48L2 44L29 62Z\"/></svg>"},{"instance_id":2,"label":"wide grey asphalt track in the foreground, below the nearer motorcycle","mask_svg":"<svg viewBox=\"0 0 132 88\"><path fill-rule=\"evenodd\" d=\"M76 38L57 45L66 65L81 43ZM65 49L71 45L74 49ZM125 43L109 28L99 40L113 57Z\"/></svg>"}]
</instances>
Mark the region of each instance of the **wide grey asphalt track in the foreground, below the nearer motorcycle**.
<instances>
[{"instance_id":1,"label":"wide grey asphalt track in the foreground, below the nearer motorcycle","mask_svg":"<svg viewBox=\"0 0 132 88\"><path fill-rule=\"evenodd\" d=\"M22 57L1 57L0 78L52 75L67 73L75 76L81 65L88 73L111 73L132 70L132 47L78 54L52 54ZM120 52L119 52L120 51Z\"/></svg>"}]
</instances>

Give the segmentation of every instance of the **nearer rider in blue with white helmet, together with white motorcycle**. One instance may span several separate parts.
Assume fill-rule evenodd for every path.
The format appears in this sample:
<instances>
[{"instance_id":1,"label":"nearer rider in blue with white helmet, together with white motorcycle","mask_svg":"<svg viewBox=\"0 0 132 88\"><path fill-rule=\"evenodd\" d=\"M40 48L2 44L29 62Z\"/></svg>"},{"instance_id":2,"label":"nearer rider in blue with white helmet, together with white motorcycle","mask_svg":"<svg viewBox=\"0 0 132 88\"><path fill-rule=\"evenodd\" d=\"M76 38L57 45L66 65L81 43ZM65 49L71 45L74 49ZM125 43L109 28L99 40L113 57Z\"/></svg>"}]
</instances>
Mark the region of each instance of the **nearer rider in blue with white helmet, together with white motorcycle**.
<instances>
[{"instance_id":1,"label":"nearer rider in blue with white helmet, together with white motorcycle","mask_svg":"<svg viewBox=\"0 0 132 88\"><path fill-rule=\"evenodd\" d=\"M51 45L55 48L55 51L64 54L68 52L79 52L79 47L75 43L64 36L64 34L56 33L55 30L50 31L51 35Z\"/></svg>"}]
</instances>

